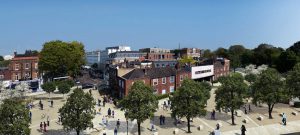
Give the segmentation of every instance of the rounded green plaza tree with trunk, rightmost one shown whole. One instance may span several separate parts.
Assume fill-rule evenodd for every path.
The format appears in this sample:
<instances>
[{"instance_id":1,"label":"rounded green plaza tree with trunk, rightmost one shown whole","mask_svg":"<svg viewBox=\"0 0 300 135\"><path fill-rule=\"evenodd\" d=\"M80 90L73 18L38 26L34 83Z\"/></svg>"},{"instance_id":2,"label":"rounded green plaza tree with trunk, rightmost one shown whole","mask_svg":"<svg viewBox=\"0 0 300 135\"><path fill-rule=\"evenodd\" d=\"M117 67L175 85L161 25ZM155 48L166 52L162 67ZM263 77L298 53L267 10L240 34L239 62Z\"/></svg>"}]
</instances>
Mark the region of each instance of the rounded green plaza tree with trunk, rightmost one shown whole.
<instances>
[{"instance_id":1,"label":"rounded green plaza tree with trunk, rightmost one shown whole","mask_svg":"<svg viewBox=\"0 0 300 135\"><path fill-rule=\"evenodd\" d=\"M266 103L268 105L269 119L272 119L273 107L276 103L287 98L284 90L284 81L273 68L262 71L253 84L253 103Z\"/></svg>"}]
</instances>

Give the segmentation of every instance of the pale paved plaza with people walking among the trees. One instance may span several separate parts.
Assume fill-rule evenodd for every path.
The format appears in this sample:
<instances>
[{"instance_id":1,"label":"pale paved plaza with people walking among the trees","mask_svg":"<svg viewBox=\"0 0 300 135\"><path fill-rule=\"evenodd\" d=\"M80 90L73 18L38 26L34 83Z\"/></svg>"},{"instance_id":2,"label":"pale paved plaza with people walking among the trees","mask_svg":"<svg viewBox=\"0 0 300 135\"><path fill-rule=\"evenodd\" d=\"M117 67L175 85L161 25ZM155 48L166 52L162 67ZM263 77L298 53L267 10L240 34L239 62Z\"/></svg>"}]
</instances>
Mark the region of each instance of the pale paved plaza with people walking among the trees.
<instances>
[{"instance_id":1,"label":"pale paved plaza with people walking among the trees","mask_svg":"<svg viewBox=\"0 0 300 135\"><path fill-rule=\"evenodd\" d=\"M216 127L217 123L221 123L221 134L222 135L239 135L240 134L240 127L244 124L247 128L246 134L249 135L280 135L280 134L288 134L292 132L300 132L300 117L299 115L295 116L291 114L293 111L298 112L293 108L288 107L288 105L278 104L275 105L273 111L274 119L268 119L268 112L265 106L262 107L255 107L252 105L252 112L250 114L245 115L243 113L243 109L238 110L241 114L239 117L235 117L235 122L237 125L231 125L231 116L230 114L224 112L216 112L216 120L210 119L210 113L214 109L214 90L211 91L211 99L208 101L207 105L207 115L199 118L194 118L193 122L191 123L191 135L208 135L211 131L213 131ZM88 92L88 90L85 90ZM102 96L99 95L97 90L92 90L93 97L95 101L97 99L101 99L103 101ZM75 134L75 132L65 132L62 129L62 125L58 123L58 109L65 103L66 98L68 95L63 97L61 94L51 94L51 97L54 98L54 107L50 107L50 102L48 102L48 94L37 95L35 98L37 99L34 103L38 104L39 98L42 99L44 103L44 110L40 110L38 107L34 107L31 109L33 114L32 124L31 124L31 134L33 135L63 135L63 134ZM174 125L174 119L171 118L171 111L164 110L162 108L162 104L164 101L168 99L163 99L159 101L159 109L155 113L155 116L151 120L144 121L141 126L141 131L143 135L152 135L152 134L159 134L159 135L171 135L173 131L176 129L178 130L178 134L186 134L187 131L187 123L186 119L182 119L183 123L178 124L177 126ZM37 105L36 105L37 106ZM99 113L99 108L101 108L101 112ZM102 122L103 117L107 115L107 110L110 108L114 110L115 117L114 118L107 118L108 124L105 125ZM116 108L113 104L106 103L105 107L102 106L95 106L97 110L97 114L93 120L94 128L88 129L82 134L91 134L91 135L102 135L104 132L107 135L113 135L113 130L116 127L116 122L120 119L121 125L118 130L118 135L126 135L127 134L127 123L124 117L124 112L120 109ZM287 114L287 125L283 126L281 122L280 113ZM160 125L159 123L159 116L164 115L166 117L165 125ZM46 122L47 117L49 116L50 126L47 127L47 132L41 132L39 130L40 122ZM264 120L258 120L258 116L263 116ZM248 119L248 123L244 123L243 120ZM154 124L155 131L150 131L151 123ZM199 126L202 126L203 129L198 130ZM128 134L136 135L137 134L137 124L136 121L128 121Z\"/></svg>"}]
</instances>

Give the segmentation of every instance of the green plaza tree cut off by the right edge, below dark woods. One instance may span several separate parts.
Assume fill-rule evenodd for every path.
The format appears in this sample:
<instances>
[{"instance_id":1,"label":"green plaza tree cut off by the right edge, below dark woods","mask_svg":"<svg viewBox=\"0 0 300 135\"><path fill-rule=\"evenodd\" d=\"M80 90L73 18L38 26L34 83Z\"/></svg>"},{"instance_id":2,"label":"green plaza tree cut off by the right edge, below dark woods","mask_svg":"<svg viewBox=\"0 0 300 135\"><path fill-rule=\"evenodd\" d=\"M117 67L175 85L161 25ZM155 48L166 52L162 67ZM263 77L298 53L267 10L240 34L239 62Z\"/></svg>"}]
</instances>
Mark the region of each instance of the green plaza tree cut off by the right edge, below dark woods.
<instances>
[{"instance_id":1,"label":"green plaza tree cut off by the right edge, below dark woods","mask_svg":"<svg viewBox=\"0 0 300 135\"><path fill-rule=\"evenodd\" d=\"M288 72L286 83L290 97L300 97L300 63L297 63L293 70Z\"/></svg>"}]
</instances>

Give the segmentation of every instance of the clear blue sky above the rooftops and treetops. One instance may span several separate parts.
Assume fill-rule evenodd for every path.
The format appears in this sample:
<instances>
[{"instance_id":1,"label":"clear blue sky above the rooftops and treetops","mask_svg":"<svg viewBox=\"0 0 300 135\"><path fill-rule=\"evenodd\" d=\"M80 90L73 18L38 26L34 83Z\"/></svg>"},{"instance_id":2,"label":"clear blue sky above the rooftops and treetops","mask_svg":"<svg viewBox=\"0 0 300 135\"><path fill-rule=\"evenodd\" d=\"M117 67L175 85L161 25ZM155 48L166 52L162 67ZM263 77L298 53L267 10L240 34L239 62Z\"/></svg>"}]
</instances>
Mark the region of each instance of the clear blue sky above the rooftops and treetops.
<instances>
[{"instance_id":1,"label":"clear blue sky above the rooftops and treetops","mask_svg":"<svg viewBox=\"0 0 300 135\"><path fill-rule=\"evenodd\" d=\"M125 44L216 49L300 40L299 0L3 0L0 55L77 40L86 50Z\"/></svg>"}]
</instances>

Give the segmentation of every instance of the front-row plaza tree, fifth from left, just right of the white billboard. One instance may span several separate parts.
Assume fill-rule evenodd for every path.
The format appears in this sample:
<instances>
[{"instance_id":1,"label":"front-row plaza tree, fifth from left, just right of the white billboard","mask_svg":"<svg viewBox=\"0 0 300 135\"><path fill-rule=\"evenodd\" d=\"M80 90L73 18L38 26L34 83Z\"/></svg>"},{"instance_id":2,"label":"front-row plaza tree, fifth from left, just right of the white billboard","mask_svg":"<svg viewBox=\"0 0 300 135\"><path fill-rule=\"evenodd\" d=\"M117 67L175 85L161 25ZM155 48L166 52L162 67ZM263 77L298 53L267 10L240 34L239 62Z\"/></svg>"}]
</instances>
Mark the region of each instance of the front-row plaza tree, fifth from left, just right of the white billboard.
<instances>
[{"instance_id":1,"label":"front-row plaza tree, fifth from left, just right of the white billboard","mask_svg":"<svg viewBox=\"0 0 300 135\"><path fill-rule=\"evenodd\" d=\"M241 74L233 73L229 76L219 78L221 86L215 91L216 109L230 109L232 125L234 123L234 112L243 104L243 98L247 94L247 84Z\"/></svg>"}]
</instances>

